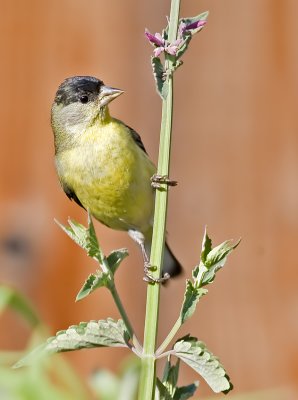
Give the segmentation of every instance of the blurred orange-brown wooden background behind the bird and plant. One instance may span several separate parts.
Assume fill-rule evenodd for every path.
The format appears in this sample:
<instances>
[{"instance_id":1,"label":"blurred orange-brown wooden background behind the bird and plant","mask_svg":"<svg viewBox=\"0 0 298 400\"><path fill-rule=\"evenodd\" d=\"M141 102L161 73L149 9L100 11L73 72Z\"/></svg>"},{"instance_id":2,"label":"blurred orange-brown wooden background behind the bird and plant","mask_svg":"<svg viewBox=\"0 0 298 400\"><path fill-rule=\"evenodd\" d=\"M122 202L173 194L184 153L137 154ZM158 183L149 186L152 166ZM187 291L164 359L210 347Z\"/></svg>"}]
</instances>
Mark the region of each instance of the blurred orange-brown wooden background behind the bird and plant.
<instances>
[{"instance_id":1,"label":"blurred orange-brown wooden background behind the bird and plant","mask_svg":"<svg viewBox=\"0 0 298 400\"><path fill-rule=\"evenodd\" d=\"M74 303L96 265L56 226L85 212L59 187L50 107L58 85L94 75L125 90L111 113L134 127L156 162L161 102L152 47L170 1L10 0L1 10L0 280L21 290L52 333L117 318L102 289ZM204 226L213 242L242 237L196 315L183 327L220 357L235 393L267 388L298 395L298 2L182 1L181 16L209 10L175 75L169 243L185 266L199 259ZM125 233L96 224L108 253L127 247L119 292L140 337L146 284L141 254ZM159 341L175 322L183 279L162 289ZM26 330L6 318L0 347L22 349ZM15 332L12 335L11 332ZM118 349L67 354L87 377L117 370ZM197 376L182 368L181 382ZM202 383L199 393L210 395ZM285 397L284 397L285 398Z\"/></svg>"}]
</instances>

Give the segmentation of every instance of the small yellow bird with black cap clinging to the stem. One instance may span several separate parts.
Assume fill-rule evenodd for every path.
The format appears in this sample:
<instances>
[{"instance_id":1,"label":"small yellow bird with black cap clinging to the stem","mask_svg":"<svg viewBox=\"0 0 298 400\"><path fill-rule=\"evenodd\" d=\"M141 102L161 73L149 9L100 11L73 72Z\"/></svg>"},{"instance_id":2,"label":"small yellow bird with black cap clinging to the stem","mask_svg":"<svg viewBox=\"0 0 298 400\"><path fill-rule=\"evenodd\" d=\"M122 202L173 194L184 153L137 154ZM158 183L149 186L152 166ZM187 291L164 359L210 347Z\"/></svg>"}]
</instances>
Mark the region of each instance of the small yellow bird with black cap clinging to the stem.
<instances>
[{"instance_id":1,"label":"small yellow bird with black cap clinging to the stem","mask_svg":"<svg viewBox=\"0 0 298 400\"><path fill-rule=\"evenodd\" d=\"M127 231L140 245L144 280L162 281L179 275L182 266L166 242L164 278L149 272L154 187L162 179L140 135L110 115L110 102L123 93L92 76L73 76L60 84L51 108L55 166L70 200L107 227ZM154 176L157 183L152 184Z\"/></svg>"}]
</instances>

